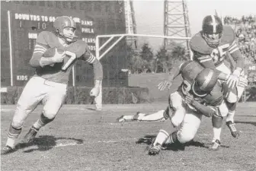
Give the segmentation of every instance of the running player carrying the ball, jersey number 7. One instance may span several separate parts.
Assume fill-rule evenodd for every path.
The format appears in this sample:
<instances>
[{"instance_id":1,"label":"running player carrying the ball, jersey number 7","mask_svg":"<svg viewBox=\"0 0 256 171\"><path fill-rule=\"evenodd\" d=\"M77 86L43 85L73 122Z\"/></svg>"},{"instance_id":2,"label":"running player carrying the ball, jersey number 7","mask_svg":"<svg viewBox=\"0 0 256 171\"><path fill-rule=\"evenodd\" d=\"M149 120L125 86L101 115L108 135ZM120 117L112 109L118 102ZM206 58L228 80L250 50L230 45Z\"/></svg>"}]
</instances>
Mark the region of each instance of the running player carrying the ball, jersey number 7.
<instances>
[{"instance_id":1,"label":"running player carrying the ball, jersey number 7","mask_svg":"<svg viewBox=\"0 0 256 171\"><path fill-rule=\"evenodd\" d=\"M90 95L97 97L100 92L102 65L91 54L88 45L75 36L75 21L67 16L57 17L53 27L53 32L43 31L37 36L30 59L36 74L21 93L1 154L15 151L15 141L21 134L24 121L38 103L43 103L43 112L25 135L24 143L33 141L40 128L55 119L66 97L70 71L78 59L88 62L94 68L94 87Z\"/></svg>"}]
</instances>

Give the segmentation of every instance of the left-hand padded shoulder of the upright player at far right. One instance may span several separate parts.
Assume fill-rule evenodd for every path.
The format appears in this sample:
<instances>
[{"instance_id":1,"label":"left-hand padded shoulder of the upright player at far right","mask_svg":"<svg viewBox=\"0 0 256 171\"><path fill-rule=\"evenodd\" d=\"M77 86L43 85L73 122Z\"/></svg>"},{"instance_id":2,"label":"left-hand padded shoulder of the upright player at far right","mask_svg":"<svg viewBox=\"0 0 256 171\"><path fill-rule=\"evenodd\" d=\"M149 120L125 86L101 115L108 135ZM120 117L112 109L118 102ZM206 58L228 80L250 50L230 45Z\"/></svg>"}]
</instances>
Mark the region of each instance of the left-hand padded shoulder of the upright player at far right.
<instances>
[{"instance_id":1,"label":"left-hand padded shoulder of the upright player at far right","mask_svg":"<svg viewBox=\"0 0 256 171\"><path fill-rule=\"evenodd\" d=\"M212 52L211 47L208 46L200 32L191 38L190 49L194 52L199 52L201 55L209 55Z\"/></svg>"}]
</instances>

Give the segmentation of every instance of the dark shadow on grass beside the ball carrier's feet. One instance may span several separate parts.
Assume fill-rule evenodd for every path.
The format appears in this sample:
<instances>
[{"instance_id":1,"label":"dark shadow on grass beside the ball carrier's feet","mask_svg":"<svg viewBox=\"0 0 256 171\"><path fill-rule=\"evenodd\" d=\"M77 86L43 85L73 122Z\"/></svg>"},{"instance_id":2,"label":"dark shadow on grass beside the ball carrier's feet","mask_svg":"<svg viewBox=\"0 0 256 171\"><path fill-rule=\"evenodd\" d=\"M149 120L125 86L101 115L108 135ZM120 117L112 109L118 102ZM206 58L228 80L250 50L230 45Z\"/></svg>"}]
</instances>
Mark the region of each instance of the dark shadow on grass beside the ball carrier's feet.
<instances>
[{"instance_id":1,"label":"dark shadow on grass beside the ball carrier's feet","mask_svg":"<svg viewBox=\"0 0 256 171\"><path fill-rule=\"evenodd\" d=\"M34 138L34 141L31 143L19 143L16 145L16 149L24 149L27 147L33 147L27 150L24 150L24 153L30 153L34 150L40 150L40 151L46 151L50 150L53 147L56 147L58 145L56 141L63 140L63 141L69 141L71 144L83 144L82 139L76 139L76 138L55 138L52 135L41 135L38 138ZM65 144L62 144L65 146Z\"/></svg>"}]
</instances>

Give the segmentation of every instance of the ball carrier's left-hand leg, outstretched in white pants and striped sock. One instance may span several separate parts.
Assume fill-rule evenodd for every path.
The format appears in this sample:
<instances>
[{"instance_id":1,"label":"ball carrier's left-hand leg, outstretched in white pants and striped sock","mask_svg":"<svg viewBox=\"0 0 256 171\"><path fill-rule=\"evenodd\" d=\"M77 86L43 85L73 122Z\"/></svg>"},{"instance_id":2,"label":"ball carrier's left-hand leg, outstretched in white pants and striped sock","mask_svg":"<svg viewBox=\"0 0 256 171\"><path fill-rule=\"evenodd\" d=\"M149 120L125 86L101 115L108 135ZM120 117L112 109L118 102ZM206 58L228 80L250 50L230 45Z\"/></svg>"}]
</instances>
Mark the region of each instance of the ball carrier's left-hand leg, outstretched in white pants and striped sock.
<instances>
[{"instance_id":1,"label":"ball carrier's left-hand leg, outstretched in white pants and striped sock","mask_svg":"<svg viewBox=\"0 0 256 171\"><path fill-rule=\"evenodd\" d=\"M40 100L43 99L44 92L41 84L40 78L34 77L24 87L8 131L6 146L2 149L1 154L8 154L8 150L14 149L15 141L21 134L21 128L24 125L25 119L37 107Z\"/></svg>"}]
</instances>

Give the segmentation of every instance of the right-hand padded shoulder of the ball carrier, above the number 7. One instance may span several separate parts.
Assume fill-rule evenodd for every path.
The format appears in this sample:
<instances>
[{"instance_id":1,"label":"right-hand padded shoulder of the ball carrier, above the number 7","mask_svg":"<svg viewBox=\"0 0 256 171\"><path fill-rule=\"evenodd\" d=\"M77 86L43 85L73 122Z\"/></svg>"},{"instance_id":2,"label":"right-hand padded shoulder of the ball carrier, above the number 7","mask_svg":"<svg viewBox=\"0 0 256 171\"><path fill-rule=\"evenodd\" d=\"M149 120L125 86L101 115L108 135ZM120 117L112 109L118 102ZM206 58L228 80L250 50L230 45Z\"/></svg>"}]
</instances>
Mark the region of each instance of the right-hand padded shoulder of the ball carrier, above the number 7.
<instances>
[{"instance_id":1,"label":"right-hand padded shoulder of the ball carrier, above the number 7","mask_svg":"<svg viewBox=\"0 0 256 171\"><path fill-rule=\"evenodd\" d=\"M86 50L88 49L88 45L83 40L77 40L74 43L71 43L66 50L70 52L74 52L77 58L81 57Z\"/></svg>"}]
</instances>

